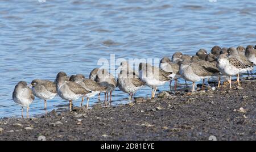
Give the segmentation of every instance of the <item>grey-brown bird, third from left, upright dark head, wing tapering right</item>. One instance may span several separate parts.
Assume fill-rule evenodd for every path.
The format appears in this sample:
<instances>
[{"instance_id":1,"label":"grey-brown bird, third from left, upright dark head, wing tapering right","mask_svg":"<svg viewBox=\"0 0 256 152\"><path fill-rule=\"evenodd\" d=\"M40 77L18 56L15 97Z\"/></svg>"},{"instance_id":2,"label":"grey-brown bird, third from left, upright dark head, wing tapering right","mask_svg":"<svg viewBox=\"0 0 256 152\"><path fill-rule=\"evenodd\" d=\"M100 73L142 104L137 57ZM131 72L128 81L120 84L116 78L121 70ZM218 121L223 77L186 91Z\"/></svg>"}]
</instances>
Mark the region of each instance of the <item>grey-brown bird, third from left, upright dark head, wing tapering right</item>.
<instances>
[{"instance_id":1,"label":"grey-brown bird, third from left, upright dark head, wing tapering right","mask_svg":"<svg viewBox=\"0 0 256 152\"><path fill-rule=\"evenodd\" d=\"M90 91L86 90L76 82L66 81L66 77L63 74L58 74L56 77L57 94L60 98L69 100L69 110L72 111L72 100L77 100Z\"/></svg>"}]
</instances>

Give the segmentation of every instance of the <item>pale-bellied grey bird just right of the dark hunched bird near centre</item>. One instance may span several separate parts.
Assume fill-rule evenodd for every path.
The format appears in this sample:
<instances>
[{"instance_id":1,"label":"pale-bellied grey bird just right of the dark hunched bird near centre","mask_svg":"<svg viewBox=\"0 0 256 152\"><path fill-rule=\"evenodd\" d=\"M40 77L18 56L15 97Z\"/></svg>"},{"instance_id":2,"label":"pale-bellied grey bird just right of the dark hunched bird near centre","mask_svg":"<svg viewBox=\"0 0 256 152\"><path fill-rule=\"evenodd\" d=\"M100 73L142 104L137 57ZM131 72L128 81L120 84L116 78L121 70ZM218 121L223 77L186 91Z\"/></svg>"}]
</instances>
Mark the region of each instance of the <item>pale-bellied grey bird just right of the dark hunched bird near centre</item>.
<instances>
[{"instance_id":1,"label":"pale-bellied grey bird just right of the dark hunched bird near centre","mask_svg":"<svg viewBox=\"0 0 256 152\"><path fill-rule=\"evenodd\" d=\"M131 103L131 99L133 99L135 92L137 92L144 85L145 83L142 82L141 79L134 74L134 72L129 73L123 69L118 74L117 86L121 91L129 94L129 104Z\"/></svg>"}]
</instances>

